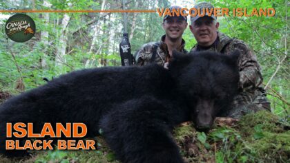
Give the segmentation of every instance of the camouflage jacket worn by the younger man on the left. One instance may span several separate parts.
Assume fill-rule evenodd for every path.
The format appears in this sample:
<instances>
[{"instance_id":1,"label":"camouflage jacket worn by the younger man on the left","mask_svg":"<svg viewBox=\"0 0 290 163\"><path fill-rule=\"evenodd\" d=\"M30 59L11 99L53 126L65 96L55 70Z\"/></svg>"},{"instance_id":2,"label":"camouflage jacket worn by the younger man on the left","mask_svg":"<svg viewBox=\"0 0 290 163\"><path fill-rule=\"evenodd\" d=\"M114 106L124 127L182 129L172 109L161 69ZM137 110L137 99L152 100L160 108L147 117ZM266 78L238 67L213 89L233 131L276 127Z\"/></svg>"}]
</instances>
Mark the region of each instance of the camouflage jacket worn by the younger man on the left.
<instances>
[{"instance_id":1,"label":"camouflage jacket worn by the younger man on the left","mask_svg":"<svg viewBox=\"0 0 290 163\"><path fill-rule=\"evenodd\" d=\"M164 43L164 40L165 40L165 34L161 37L161 41L158 42L157 54L154 59L154 63L163 65L163 66L164 66L164 63L170 61L171 59L169 56L167 45L166 43ZM154 44L155 43L146 43L145 45L141 47L140 50L138 50L135 53L136 65L147 65L148 63L151 63ZM184 45L185 45L185 41L184 39L182 39L182 45L177 50L187 54L187 51L184 49Z\"/></svg>"}]
</instances>

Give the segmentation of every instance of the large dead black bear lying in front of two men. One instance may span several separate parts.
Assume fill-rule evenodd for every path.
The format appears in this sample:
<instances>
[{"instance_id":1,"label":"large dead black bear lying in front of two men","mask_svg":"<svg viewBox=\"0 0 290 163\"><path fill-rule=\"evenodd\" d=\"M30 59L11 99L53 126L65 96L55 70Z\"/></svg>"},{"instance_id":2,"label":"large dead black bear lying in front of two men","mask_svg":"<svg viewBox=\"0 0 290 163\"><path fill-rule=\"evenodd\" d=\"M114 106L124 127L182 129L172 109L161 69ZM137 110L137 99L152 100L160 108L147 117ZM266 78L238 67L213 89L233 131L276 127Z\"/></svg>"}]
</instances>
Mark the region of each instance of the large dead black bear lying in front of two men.
<instances>
[{"instance_id":1,"label":"large dead black bear lying in front of two men","mask_svg":"<svg viewBox=\"0 0 290 163\"><path fill-rule=\"evenodd\" d=\"M192 120L209 129L238 91L239 52L175 52L168 69L102 67L71 72L0 106L0 152L6 123L83 122L88 136L101 129L122 162L184 162L171 131ZM39 129L36 129L39 130Z\"/></svg>"}]
</instances>

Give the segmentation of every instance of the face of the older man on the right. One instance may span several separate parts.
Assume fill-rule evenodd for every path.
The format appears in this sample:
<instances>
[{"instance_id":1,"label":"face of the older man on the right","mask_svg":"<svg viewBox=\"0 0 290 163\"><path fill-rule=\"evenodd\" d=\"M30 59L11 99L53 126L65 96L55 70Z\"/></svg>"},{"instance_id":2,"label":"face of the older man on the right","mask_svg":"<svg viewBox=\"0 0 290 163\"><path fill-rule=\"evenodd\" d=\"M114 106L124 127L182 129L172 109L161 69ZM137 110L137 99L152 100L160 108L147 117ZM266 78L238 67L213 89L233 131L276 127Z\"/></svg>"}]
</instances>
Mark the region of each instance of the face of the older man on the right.
<instances>
[{"instance_id":1,"label":"face of the older man on the right","mask_svg":"<svg viewBox=\"0 0 290 163\"><path fill-rule=\"evenodd\" d=\"M207 47L217 39L219 23L214 23L211 17L200 17L189 25L198 45Z\"/></svg>"}]
</instances>

